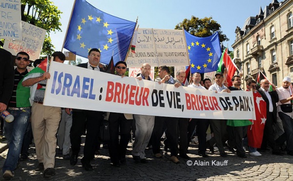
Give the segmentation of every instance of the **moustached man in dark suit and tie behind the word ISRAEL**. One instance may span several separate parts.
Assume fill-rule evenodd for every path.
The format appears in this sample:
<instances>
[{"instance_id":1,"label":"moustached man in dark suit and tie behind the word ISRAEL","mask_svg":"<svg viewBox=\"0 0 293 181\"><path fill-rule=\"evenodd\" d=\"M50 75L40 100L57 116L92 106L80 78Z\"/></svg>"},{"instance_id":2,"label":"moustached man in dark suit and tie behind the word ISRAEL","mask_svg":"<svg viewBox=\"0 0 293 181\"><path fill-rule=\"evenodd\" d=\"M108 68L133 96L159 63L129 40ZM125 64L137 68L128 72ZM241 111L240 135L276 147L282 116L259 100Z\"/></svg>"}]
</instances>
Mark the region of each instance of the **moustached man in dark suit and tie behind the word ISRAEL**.
<instances>
[{"instance_id":1,"label":"moustached man in dark suit and tie behind the word ISRAEL","mask_svg":"<svg viewBox=\"0 0 293 181\"><path fill-rule=\"evenodd\" d=\"M99 63L101 53L99 49L93 48L88 52L88 62L77 65L89 70L100 71ZM70 114L70 109L65 109ZM81 162L85 170L93 170L90 164L91 158L95 155L97 137L100 131L100 124L103 120L103 112L94 110L72 110L72 126L70 129L70 143L72 155L70 157L70 164L77 163L78 154L81 147L81 136L84 131L84 123L86 121L86 137L84 145L84 157Z\"/></svg>"}]
</instances>

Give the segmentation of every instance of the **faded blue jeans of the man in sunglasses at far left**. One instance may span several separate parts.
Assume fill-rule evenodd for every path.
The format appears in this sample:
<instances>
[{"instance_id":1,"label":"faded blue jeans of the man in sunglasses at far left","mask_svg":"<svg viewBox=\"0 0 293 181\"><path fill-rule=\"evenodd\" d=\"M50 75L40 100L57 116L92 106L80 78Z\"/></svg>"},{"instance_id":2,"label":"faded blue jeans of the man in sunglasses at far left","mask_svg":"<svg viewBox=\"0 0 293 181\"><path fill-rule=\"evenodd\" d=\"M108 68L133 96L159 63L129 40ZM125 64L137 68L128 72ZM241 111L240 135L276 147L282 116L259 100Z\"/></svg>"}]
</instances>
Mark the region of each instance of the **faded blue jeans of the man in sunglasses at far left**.
<instances>
[{"instance_id":1,"label":"faded blue jeans of the man in sunglasses at far left","mask_svg":"<svg viewBox=\"0 0 293 181\"><path fill-rule=\"evenodd\" d=\"M23 136L29 122L31 109L9 110L9 112L14 116L14 121L11 123L4 121L4 135L8 141L9 149L2 168L3 173L5 170L13 172L19 162Z\"/></svg>"}]
</instances>

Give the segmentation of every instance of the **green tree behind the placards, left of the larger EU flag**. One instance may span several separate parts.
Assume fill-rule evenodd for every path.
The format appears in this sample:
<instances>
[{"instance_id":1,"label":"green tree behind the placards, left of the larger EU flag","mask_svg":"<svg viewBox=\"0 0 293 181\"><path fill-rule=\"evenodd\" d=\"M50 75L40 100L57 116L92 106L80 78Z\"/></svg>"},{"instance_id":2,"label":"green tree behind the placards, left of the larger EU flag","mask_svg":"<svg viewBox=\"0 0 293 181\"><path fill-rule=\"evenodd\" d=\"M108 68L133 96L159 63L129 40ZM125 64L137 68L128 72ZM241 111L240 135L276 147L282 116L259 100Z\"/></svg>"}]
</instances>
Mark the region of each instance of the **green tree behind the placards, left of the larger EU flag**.
<instances>
[{"instance_id":1,"label":"green tree behind the placards, left of the larger EU flag","mask_svg":"<svg viewBox=\"0 0 293 181\"><path fill-rule=\"evenodd\" d=\"M42 47L42 56L51 55L55 48L50 33L61 30L62 12L50 0L21 0L21 20L47 31ZM3 46L4 39L0 45Z\"/></svg>"}]
</instances>

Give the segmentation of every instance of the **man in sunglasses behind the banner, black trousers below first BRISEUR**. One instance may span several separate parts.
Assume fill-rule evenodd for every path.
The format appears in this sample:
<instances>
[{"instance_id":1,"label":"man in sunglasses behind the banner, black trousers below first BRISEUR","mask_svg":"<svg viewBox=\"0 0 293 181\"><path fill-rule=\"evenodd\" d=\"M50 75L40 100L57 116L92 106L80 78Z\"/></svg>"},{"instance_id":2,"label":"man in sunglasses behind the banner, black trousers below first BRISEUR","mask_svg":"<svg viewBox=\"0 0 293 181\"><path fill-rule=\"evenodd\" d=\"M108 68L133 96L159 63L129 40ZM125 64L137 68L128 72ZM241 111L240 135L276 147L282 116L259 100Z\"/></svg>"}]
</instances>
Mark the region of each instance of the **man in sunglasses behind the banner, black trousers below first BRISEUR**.
<instances>
[{"instance_id":1,"label":"man in sunglasses behind the banner, black trousers below first BRISEUR","mask_svg":"<svg viewBox=\"0 0 293 181\"><path fill-rule=\"evenodd\" d=\"M127 64L125 61L118 61L115 64L116 75L125 77L126 67ZM126 164L126 148L131 138L130 131L132 120L132 114L124 114L117 112L109 113L109 155L112 162L112 166L119 167L120 164Z\"/></svg>"}]
</instances>

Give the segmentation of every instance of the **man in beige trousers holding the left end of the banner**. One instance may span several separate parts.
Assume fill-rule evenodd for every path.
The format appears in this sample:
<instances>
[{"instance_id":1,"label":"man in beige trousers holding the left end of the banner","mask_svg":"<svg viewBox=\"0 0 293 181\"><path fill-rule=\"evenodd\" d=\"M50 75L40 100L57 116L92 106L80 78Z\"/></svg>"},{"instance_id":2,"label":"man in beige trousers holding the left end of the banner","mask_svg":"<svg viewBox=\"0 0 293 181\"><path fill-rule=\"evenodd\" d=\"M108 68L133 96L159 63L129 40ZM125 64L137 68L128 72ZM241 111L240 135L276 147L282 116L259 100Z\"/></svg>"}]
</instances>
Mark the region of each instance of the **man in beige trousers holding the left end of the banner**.
<instances>
[{"instance_id":1,"label":"man in beige trousers holding the left end of the banner","mask_svg":"<svg viewBox=\"0 0 293 181\"><path fill-rule=\"evenodd\" d=\"M63 63L65 55L62 52L52 54L53 61ZM43 106L44 92L49 72L33 72L23 78L22 86L31 87L32 119L31 125L36 145L36 155L39 161L38 169L43 177L49 178L55 173L56 133L61 120L61 108Z\"/></svg>"}]
</instances>

